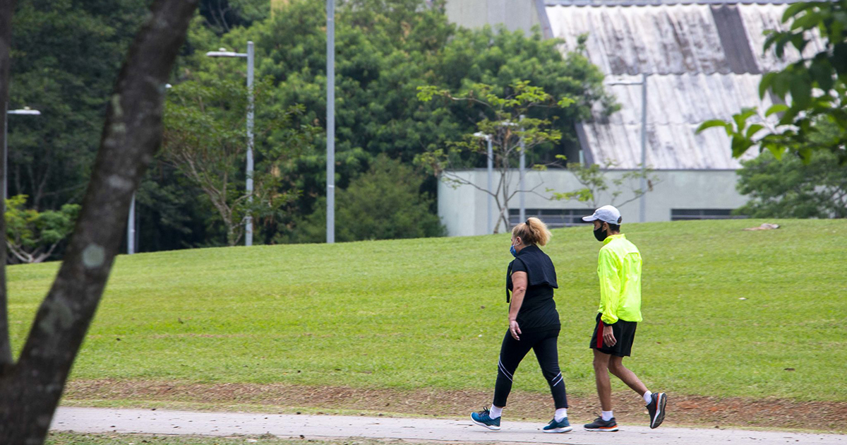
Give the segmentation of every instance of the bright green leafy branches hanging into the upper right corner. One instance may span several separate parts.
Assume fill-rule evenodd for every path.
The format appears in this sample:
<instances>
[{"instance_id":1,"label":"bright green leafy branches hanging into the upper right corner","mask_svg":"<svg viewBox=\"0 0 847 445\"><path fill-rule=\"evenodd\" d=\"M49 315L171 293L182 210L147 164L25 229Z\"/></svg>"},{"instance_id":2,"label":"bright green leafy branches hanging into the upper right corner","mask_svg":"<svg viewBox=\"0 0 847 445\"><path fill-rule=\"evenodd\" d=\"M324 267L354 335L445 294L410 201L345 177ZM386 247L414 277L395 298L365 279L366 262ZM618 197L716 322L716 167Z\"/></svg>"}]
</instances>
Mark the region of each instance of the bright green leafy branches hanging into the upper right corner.
<instances>
[{"instance_id":1,"label":"bright green leafy branches hanging into the upper right corner","mask_svg":"<svg viewBox=\"0 0 847 445\"><path fill-rule=\"evenodd\" d=\"M789 47L802 53L816 35L824 48L762 76L759 95L772 92L783 103L768 108L764 116L756 108L745 108L733 122L711 120L698 131L722 126L732 138L735 157L757 146L776 159L794 153L808 163L813 153L824 150L834 153L839 164L847 164L847 1L794 3L783 14L783 23L789 21L787 31L766 31L765 51L772 49L779 58ZM776 125L767 121L773 114L778 114ZM757 122L748 126L754 117ZM824 136L822 127L836 131Z\"/></svg>"}]
</instances>

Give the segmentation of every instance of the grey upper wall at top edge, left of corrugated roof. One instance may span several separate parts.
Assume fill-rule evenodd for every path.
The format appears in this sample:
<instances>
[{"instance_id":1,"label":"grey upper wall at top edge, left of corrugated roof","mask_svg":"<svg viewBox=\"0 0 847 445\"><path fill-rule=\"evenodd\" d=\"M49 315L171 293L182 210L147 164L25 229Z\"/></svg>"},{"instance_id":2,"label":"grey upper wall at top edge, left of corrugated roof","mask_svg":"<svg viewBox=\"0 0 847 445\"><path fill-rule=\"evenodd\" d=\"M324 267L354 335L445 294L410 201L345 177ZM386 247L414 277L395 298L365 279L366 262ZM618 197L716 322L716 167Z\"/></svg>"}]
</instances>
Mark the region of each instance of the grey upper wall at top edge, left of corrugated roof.
<instances>
[{"instance_id":1,"label":"grey upper wall at top edge, left of corrugated roof","mask_svg":"<svg viewBox=\"0 0 847 445\"><path fill-rule=\"evenodd\" d=\"M529 32L540 25L535 0L447 0L447 18L466 28L504 24L509 31Z\"/></svg>"}]
</instances>

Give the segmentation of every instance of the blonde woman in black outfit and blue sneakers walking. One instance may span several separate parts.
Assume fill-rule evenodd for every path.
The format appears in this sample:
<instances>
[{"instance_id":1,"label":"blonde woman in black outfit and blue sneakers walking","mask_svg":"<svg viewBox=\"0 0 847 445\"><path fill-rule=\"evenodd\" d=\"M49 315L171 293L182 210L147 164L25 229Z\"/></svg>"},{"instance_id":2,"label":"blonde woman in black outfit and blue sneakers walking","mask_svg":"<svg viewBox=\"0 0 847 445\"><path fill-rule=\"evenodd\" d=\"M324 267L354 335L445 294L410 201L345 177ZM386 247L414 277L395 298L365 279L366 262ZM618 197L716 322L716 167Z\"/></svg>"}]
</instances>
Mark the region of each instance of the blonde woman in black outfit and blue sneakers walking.
<instances>
[{"instance_id":1,"label":"blonde woman in black outfit and blue sneakers walking","mask_svg":"<svg viewBox=\"0 0 847 445\"><path fill-rule=\"evenodd\" d=\"M512 229L512 248L515 259L509 264L506 275L506 301L509 304L509 329L503 337L500 360L497 362L497 381L494 387L494 403L490 409L471 414L473 423L500 430L502 409L512 391L512 379L523 357L534 350L541 366L556 413L544 432L567 432L573 430L567 422L567 395L562 372L559 370L559 352L556 340L561 324L553 289L556 283L556 268L539 246L545 246L551 233L538 218L529 218ZM509 302L509 292L512 292Z\"/></svg>"}]
</instances>

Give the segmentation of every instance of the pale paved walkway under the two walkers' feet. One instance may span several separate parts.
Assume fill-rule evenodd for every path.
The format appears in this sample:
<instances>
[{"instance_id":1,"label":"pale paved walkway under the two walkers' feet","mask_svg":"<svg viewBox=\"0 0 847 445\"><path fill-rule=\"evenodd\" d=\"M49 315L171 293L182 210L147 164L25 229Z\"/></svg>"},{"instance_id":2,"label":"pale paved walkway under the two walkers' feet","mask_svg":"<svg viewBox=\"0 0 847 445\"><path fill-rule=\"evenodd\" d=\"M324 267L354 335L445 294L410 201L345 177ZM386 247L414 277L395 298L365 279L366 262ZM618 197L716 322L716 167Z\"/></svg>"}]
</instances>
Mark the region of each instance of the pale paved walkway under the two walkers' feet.
<instances>
[{"instance_id":1,"label":"pale paved walkway under the two walkers' feet","mask_svg":"<svg viewBox=\"0 0 847 445\"><path fill-rule=\"evenodd\" d=\"M53 431L119 432L230 436L273 434L277 437L368 437L451 442L520 442L573 445L711 445L799 443L847 445L847 436L779 431L743 431L621 426L617 432L583 431L545 434L541 424L503 422L501 431L488 431L470 420L394 419L296 414L196 413L152 409L59 408Z\"/></svg>"}]
</instances>

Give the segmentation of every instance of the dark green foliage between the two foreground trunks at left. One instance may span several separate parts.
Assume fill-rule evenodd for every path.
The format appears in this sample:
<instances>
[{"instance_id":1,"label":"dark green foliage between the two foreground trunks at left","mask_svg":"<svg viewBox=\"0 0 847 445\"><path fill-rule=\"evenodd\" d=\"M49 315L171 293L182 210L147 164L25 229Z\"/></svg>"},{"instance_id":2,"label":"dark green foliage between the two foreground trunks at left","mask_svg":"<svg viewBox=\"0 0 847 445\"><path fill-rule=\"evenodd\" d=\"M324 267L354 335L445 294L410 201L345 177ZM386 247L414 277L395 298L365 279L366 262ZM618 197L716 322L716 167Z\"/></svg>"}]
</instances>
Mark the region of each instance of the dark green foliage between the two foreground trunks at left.
<instances>
[{"instance_id":1,"label":"dark green foliage between the two foreground trunks at left","mask_svg":"<svg viewBox=\"0 0 847 445\"><path fill-rule=\"evenodd\" d=\"M78 202L102 131L105 105L145 0L19 0L13 16L9 196L34 209Z\"/></svg>"}]
</instances>

